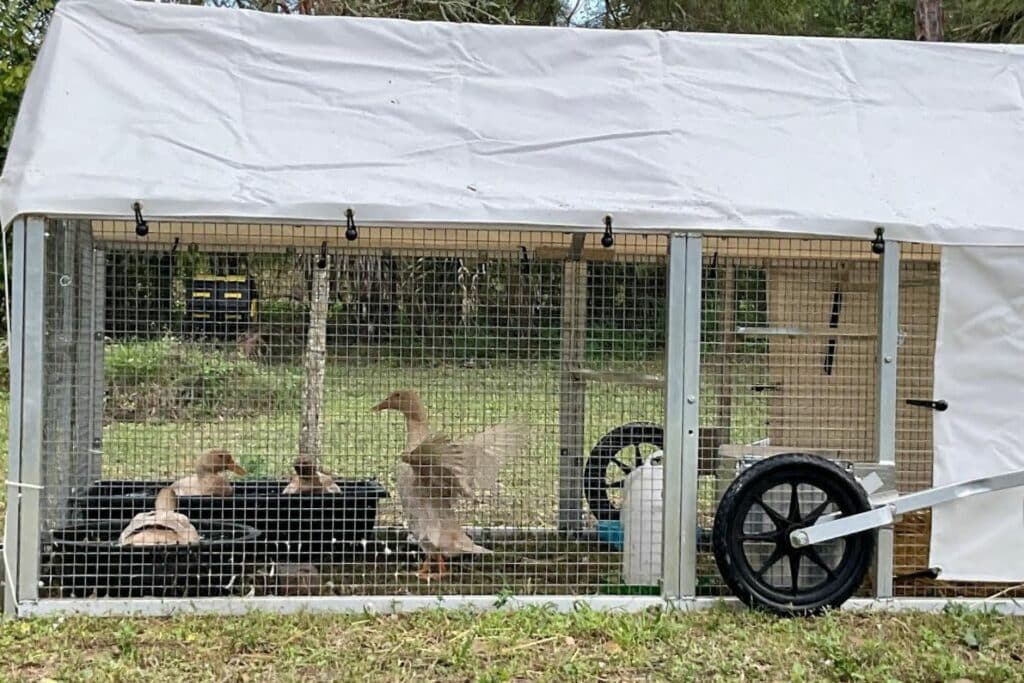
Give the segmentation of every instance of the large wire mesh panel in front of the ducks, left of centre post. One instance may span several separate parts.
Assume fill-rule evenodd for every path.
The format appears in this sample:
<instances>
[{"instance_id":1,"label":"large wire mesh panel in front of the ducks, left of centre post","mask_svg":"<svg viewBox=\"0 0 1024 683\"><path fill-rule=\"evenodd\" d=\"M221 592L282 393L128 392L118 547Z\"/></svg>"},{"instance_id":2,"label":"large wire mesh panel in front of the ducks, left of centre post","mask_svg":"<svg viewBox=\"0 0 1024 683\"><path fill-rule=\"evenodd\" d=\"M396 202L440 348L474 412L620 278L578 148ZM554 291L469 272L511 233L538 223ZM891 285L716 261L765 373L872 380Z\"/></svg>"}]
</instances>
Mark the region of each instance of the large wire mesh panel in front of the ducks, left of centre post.
<instances>
[{"instance_id":1,"label":"large wire mesh panel in front of the ducks, left of centre post","mask_svg":"<svg viewBox=\"0 0 1024 683\"><path fill-rule=\"evenodd\" d=\"M44 597L657 590L664 238L148 228L51 225Z\"/></svg>"}]
</instances>

